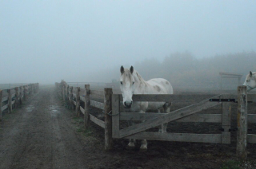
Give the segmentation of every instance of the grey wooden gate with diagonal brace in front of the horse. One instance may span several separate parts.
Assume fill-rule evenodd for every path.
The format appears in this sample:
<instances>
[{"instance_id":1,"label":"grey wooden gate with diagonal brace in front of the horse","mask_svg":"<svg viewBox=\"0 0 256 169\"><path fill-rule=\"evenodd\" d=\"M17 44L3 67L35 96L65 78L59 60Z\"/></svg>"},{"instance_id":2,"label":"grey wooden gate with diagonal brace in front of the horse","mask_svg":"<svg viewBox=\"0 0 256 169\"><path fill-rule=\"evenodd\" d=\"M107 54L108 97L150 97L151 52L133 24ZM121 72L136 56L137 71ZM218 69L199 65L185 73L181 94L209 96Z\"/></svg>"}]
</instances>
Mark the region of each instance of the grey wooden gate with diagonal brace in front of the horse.
<instances>
[{"instance_id":1,"label":"grey wooden gate with diagonal brace in front of the horse","mask_svg":"<svg viewBox=\"0 0 256 169\"><path fill-rule=\"evenodd\" d=\"M186 100L186 95L134 95L133 101L172 102L173 100ZM214 96L212 99L228 99L230 95ZM201 143L230 143L230 103L210 102L202 100L185 108L170 113L138 113L120 112L122 95L112 96L112 135L113 138L139 139L139 140L166 140ZM204 109L222 104L222 114L195 114ZM120 120L141 120L128 128L120 129ZM171 121L183 122L209 122L222 123L221 134L191 134L191 133L159 133L145 132L147 129L166 124Z\"/></svg>"}]
</instances>

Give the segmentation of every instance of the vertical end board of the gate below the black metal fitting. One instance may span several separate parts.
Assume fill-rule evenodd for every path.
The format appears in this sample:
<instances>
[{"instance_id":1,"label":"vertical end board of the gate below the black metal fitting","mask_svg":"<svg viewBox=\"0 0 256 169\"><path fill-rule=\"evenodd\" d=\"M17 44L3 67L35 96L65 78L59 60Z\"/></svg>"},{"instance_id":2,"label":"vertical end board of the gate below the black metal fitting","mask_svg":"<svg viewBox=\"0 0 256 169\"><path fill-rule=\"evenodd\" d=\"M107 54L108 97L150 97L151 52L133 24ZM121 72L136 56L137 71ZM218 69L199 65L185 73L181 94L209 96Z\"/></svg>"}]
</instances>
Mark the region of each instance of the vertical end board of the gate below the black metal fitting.
<instances>
[{"instance_id":1,"label":"vertical end board of the gate below the black metal fitting","mask_svg":"<svg viewBox=\"0 0 256 169\"><path fill-rule=\"evenodd\" d=\"M225 97L225 96L224 96ZM231 104L222 102L222 143L230 143Z\"/></svg>"}]
</instances>

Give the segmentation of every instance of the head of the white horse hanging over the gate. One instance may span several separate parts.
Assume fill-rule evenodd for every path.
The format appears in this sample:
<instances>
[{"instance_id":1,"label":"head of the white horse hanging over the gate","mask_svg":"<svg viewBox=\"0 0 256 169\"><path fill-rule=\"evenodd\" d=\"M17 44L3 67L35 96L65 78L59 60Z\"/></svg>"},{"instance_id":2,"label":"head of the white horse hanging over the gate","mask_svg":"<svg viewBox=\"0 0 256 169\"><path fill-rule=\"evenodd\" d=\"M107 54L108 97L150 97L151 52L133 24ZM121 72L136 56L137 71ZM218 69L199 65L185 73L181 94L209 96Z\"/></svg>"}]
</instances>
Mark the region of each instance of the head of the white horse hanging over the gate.
<instances>
[{"instance_id":1,"label":"head of the white horse hanging over the gate","mask_svg":"<svg viewBox=\"0 0 256 169\"><path fill-rule=\"evenodd\" d=\"M134 67L130 66L130 69L124 69L121 66L120 69L120 88L122 92L122 103L125 108L131 108L133 104L133 94L134 94Z\"/></svg>"}]
</instances>

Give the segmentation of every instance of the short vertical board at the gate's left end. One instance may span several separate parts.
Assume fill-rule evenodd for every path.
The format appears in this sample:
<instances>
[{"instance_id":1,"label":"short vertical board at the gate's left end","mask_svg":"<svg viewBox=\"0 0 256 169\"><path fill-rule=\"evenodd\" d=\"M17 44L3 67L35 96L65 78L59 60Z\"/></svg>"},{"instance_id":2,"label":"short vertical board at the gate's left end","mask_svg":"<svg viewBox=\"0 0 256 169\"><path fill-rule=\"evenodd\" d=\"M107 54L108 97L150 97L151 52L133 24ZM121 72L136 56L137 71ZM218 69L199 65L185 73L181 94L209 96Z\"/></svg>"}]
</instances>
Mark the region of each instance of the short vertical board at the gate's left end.
<instances>
[{"instance_id":1,"label":"short vertical board at the gate's left end","mask_svg":"<svg viewBox=\"0 0 256 169\"><path fill-rule=\"evenodd\" d=\"M113 138L119 138L119 130L120 130L119 108L120 108L119 95L112 95L112 137Z\"/></svg>"}]
</instances>

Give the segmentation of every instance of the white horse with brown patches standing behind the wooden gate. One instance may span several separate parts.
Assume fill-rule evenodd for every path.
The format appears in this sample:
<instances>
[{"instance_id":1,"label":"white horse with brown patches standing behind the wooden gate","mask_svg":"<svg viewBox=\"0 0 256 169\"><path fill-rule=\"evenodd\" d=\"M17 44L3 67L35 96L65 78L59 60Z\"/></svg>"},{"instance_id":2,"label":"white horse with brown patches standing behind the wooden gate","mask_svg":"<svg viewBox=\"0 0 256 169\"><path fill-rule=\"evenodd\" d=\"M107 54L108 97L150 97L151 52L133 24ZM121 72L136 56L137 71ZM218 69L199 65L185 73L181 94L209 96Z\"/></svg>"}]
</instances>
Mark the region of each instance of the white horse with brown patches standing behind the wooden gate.
<instances>
[{"instance_id":1,"label":"white horse with brown patches standing behind the wooden gate","mask_svg":"<svg viewBox=\"0 0 256 169\"><path fill-rule=\"evenodd\" d=\"M120 69L120 88L123 98L123 106L126 108L125 112L146 112L146 110L158 110L164 109L164 112L170 112L170 102L134 102L133 94L173 94L173 87L170 82L162 79L151 79L150 81L144 81L138 74L134 67L130 69L124 69L121 66ZM130 122L134 125L134 121ZM162 129L159 132L166 132L167 124L162 124ZM134 147L134 141L130 139L129 147ZM142 140L141 149L147 149L146 140Z\"/></svg>"}]
</instances>

